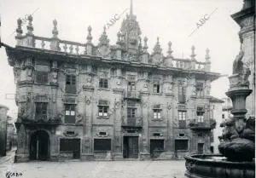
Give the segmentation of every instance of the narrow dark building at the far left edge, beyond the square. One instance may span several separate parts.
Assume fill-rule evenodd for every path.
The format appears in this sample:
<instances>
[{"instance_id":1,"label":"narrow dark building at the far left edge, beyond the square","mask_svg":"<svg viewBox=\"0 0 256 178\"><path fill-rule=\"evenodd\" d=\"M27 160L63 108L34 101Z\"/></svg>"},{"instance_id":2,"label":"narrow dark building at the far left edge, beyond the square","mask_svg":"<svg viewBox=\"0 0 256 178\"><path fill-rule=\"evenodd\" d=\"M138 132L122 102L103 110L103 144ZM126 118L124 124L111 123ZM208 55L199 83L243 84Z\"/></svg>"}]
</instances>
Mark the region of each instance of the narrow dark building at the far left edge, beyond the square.
<instances>
[{"instance_id":1,"label":"narrow dark building at the far left edge, beyond the square","mask_svg":"<svg viewBox=\"0 0 256 178\"><path fill-rule=\"evenodd\" d=\"M7 106L0 105L0 156L6 155L8 110Z\"/></svg>"}]
</instances>

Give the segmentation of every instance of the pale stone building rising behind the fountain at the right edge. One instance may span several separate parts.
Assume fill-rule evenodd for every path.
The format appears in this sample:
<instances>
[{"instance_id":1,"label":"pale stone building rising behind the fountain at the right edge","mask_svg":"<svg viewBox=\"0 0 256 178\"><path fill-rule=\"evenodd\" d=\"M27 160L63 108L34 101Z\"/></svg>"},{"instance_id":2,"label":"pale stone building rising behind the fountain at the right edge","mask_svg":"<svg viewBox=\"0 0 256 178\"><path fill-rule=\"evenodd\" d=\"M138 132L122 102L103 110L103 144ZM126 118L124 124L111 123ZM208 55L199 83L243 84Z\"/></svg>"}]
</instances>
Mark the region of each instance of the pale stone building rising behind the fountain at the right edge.
<instances>
[{"instance_id":1,"label":"pale stone building rising behind the fountain at the right edge","mask_svg":"<svg viewBox=\"0 0 256 178\"><path fill-rule=\"evenodd\" d=\"M255 117L255 0L244 0L241 11L232 14L231 17L241 27L239 32L241 50L244 51L242 61L248 67L251 74L248 78L251 95L247 97L247 118Z\"/></svg>"}]
</instances>

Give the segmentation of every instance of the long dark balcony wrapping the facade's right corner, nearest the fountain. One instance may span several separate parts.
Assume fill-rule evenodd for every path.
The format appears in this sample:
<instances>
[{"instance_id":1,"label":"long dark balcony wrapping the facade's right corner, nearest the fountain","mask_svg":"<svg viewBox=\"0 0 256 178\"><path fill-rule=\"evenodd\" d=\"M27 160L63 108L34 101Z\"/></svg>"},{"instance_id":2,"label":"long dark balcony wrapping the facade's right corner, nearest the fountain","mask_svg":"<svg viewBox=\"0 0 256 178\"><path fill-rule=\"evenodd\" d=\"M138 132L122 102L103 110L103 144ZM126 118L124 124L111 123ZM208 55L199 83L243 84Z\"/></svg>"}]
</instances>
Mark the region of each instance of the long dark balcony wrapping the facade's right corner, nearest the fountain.
<instances>
[{"instance_id":1,"label":"long dark balcony wrapping the facade's right corner, nearest the fountain","mask_svg":"<svg viewBox=\"0 0 256 178\"><path fill-rule=\"evenodd\" d=\"M197 119L192 119L189 122L190 129L215 129L215 119L204 119L203 122L198 122Z\"/></svg>"}]
</instances>

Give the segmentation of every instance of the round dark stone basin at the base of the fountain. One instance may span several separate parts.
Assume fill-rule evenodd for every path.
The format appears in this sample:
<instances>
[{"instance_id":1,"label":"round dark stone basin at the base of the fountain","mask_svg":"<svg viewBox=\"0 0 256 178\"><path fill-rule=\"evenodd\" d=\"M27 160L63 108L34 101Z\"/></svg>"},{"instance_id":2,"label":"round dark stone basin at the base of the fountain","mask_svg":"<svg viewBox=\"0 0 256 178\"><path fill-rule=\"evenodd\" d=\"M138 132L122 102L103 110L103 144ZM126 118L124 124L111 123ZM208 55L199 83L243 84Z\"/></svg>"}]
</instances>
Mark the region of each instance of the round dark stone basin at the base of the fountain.
<instances>
[{"instance_id":1,"label":"round dark stone basin at the base of the fountain","mask_svg":"<svg viewBox=\"0 0 256 178\"><path fill-rule=\"evenodd\" d=\"M255 177L255 159L252 162L230 162L220 154L195 154L184 158L185 176L189 178Z\"/></svg>"}]
</instances>

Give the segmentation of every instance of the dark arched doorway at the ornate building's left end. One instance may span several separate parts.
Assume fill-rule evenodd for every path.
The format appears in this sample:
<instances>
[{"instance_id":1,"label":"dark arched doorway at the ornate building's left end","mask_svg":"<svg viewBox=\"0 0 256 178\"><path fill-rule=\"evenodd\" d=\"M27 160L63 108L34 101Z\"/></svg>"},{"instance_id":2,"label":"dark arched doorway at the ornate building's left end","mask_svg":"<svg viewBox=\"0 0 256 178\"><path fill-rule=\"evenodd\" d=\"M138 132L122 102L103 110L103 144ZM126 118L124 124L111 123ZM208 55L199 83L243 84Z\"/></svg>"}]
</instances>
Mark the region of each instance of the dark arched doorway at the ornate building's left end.
<instances>
[{"instance_id":1,"label":"dark arched doorway at the ornate building's left end","mask_svg":"<svg viewBox=\"0 0 256 178\"><path fill-rule=\"evenodd\" d=\"M31 135L30 159L31 160L48 160L49 159L49 135L46 131L38 130Z\"/></svg>"}]
</instances>

